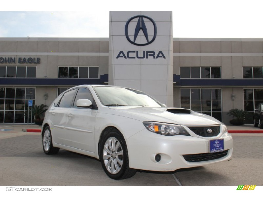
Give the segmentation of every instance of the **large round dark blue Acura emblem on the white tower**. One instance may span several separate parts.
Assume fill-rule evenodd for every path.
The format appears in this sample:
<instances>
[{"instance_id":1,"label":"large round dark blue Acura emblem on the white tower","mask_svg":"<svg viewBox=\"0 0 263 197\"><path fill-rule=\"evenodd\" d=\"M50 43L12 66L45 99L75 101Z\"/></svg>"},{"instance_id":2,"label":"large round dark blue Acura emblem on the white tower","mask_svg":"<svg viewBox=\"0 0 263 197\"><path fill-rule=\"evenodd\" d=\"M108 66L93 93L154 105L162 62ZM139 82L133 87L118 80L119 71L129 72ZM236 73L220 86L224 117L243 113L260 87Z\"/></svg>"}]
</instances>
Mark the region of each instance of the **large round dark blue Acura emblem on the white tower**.
<instances>
[{"instance_id":1,"label":"large round dark blue Acura emblem on the white tower","mask_svg":"<svg viewBox=\"0 0 263 197\"><path fill-rule=\"evenodd\" d=\"M136 27L135 27L135 30L134 30L134 37L133 39L131 39L128 35L128 27L129 27L129 24L132 20L134 19L137 19L138 18L138 21L137 21L137 24L136 24ZM150 35L153 35L153 38L151 38L149 40L149 35L148 35L148 30L146 28L146 25L145 25L145 22L144 20L150 20L150 22L152 23L153 25L153 32L150 32ZM148 23L149 24L149 23ZM148 28L149 28L149 25L147 24ZM146 43L139 43L138 40L136 41L136 38L138 36L138 34L140 33L140 31L142 31L145 39L146 39ZM132 32L133 33L133 32ZM127 40L131 43L131 44L134 44L134 45L137 45L137 46L145 46L145 45L148 45L148 44L151 44L155 38L156 38L156 34L157 34L157 28L156 28L156 23L154 22L153 19L151 19L150 17L148 16L144 16L144 15L137 15L137 16L134 16L134 17L131 17L127 22L126 22L126 25L125 25L125 36L127 38Z\"/></svg>"}]
</instances>

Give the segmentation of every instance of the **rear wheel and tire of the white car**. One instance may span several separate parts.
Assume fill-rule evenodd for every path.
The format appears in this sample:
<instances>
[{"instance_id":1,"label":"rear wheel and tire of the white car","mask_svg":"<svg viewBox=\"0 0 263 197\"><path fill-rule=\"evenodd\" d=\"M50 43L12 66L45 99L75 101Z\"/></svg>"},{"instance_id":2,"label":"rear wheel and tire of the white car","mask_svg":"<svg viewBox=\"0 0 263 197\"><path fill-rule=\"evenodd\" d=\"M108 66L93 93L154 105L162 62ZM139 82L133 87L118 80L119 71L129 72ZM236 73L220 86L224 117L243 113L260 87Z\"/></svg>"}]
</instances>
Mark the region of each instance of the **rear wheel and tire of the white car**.
<instances>
[{"instance_id":1,"label":"rear wheel and tire of the white car","mask_svg":"<svg viewBox=\"0 0 263 197\"><path fill-rule=\"evenodd\" d=\"M59 151L59 148L53 147L52 136L51 136L50 128L48 126L45 127L43 132L42 147L44 153L48 155L57 154Z\"/></svg>"}]
</instances>

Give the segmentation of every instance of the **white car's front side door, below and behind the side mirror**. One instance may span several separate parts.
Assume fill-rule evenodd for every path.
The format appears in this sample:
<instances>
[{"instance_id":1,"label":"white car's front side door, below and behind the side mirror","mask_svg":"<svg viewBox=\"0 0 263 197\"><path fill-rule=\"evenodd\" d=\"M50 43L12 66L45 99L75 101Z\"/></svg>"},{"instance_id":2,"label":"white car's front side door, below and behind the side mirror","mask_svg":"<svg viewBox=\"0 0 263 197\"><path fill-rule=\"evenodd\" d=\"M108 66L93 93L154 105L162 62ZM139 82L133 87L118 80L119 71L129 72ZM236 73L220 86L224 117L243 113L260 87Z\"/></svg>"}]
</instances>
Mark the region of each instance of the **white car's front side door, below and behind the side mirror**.
<instances>
[{"instance_id":1,"label":"white car's front side door, below and behind the side mirror","mask_svg":"<svg viewBox=\"0 0 263 197\"><path fill-rule=\"evenodd\" d=\"M89 108L77 107L78 99L89 99L93 105ZM67 112L67 143L68 146L82 149L89 152L95 151L94 127L97 115L97 106L89 89L81 87L73 103L73 108Z\"/></svg>"}]
</instances>

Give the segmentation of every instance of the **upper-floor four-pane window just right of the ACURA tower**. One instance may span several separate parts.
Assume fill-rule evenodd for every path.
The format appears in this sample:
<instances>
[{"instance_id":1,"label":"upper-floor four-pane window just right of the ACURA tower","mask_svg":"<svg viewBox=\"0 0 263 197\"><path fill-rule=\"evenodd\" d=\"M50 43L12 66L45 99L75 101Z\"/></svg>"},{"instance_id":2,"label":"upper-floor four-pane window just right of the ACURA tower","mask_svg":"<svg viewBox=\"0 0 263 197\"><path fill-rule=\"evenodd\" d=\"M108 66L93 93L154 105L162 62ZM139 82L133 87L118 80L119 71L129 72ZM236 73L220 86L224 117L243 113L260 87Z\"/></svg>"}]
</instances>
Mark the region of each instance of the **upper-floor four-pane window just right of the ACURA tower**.
<instances>
[{"instance_id":1,"label":"upper-floor four-pane window just right of the ACURA tower","mask_svg":"<svg viewBox=\"0 0 263 197\"><path fill-rule=\"evenodd\" d=\"M221 79L221 67L180 67L181 79Z\"/></svg>"}]
</instances>

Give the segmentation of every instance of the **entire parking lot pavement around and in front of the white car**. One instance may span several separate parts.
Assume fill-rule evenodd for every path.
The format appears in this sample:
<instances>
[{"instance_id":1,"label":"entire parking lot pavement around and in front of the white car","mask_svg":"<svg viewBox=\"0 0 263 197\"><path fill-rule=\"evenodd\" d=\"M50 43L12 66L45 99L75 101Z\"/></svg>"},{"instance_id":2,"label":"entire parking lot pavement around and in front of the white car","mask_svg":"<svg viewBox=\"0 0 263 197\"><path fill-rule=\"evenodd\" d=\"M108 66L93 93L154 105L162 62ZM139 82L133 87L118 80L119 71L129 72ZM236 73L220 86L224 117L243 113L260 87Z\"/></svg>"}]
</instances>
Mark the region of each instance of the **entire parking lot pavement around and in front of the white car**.
<instances>
[{"instance_id":1,"label":"entire parking lot pavement around and in front of the white car","mask_svg":"<svg viewBox=\"0 0 263 197\"><path fill-rule=\"evenodd\" d=\"M233 159L173 173L137 172L124 180L104 173L97 159L60 149L43 153L40 133L0 131L0 185L263 185L263 134L232 134ZM13 133L11 133L13 132ZM178 179L179 182L176 182Z\"/></svg>"}]
</instances>

